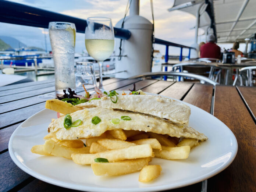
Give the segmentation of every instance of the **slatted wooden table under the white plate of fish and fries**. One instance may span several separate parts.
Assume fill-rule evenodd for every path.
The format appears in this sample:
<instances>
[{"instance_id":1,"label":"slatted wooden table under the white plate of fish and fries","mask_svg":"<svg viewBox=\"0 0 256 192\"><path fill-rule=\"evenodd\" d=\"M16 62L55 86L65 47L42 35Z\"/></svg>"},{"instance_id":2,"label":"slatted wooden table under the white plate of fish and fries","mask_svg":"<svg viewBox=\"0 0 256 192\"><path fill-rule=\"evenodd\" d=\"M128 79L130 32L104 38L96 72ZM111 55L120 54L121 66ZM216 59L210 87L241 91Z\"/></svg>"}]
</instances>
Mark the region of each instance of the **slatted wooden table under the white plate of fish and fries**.
<instances>
[{"instance_id":1,"label":"slatted wooden table under the white plate of fish and fries","mask_svg":"<svg viewBox=\"0 0 256 192\"><path fill-rule=\"evenodd\" d=\"M106 90L137 89L191 103L212 113L235 134L238 153L234 162L221 173L208 179L208 192L256 191L256 88L216 86L140 79L107 79ZM64 190L40 181L19 169L8 153L8 141L22 121L45 108L46 99L38 95L54 91L53 81L29 82L0 87L0 191ZM180 189L200 192L201 182Z\"/></svg>"}]
</instances>

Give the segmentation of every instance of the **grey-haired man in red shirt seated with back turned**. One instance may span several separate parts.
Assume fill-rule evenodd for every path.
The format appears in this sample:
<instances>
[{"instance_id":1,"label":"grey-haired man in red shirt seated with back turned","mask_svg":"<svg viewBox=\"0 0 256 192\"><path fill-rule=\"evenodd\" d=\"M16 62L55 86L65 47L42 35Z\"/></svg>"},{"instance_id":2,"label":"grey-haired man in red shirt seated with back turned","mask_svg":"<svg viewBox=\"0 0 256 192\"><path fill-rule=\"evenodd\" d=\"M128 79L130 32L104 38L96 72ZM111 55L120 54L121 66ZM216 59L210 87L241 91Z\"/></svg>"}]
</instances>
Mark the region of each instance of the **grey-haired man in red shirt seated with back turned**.
<instances>
[{"instance_id":1,"label":"grey-haired man in red shirt seated with back turned","mask_svg":"<svg viewBox=\"0 0 256 192\"><path fill-rule=\"evenodd\" d=\"M220 59L220 47L215 44L214 35L207 35L207 43L200 47L200 58Z\"/></svg>"}]
</instances>

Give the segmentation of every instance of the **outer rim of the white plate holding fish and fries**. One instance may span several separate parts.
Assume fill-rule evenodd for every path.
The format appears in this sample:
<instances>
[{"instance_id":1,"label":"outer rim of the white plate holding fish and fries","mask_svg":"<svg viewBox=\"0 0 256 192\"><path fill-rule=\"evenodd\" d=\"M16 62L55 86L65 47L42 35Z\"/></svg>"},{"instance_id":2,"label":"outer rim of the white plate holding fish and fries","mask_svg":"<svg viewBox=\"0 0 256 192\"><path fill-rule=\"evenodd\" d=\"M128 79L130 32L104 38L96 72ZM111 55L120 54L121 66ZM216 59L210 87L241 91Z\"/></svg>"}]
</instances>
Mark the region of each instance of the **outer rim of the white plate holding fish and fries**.
<instances>
[{"instance_id":1,"label":"outer rim of the white plate holding fish and fries","mask_svg":"<svg viewBox=\"0 0 256 192\"><path fill-rule=\"evenodd\" d=\"M147 92L145 92L147 93ZM158 95L158 94L154 94L154 93L147 93L148 95ZM167 96L163 96L163 95L159 95L161 97L167 97ZM197 106L194 106L190 103L186 103L184 101L181 101L181 100L178 100L178 99L174 99L174 98L171 98L171 97L167 97L167 98L170 98L170 99L173 99L173 100L176 100L178 102L181 102L181 103L184 103L186 105L188 105L189 107L193 106L193 107L196 107L197 110L202 110L203 113L208 113L207 111L203 110L203 109L200 109L199 107ZM231 131L230 128L227 127L227 125L225 125L222 121L220 121L217 117L215 117L214 115L210 114L212 117L215 118L216 121L219 121L221 122L221 124L223 124L225 126L225 128L227 128L227 130L230 132L230 134L232 135L232 137L234 138L234 141L235 143L233 143L234 145L234 149L235 149L235 152L232 153L230 159L224 163L224 166L222 166L221 168L218 168L214 171L211 171L207 174L204 174L200 177L196 177L196 178L193 178L193 179L189 179L189 180L186 180L186 181L181 181L181 182L178 182L176 184L176 186L173 186L173 184L167 184L167 185L161 185L161 186L150 186L150 187L142 187L142 188L104 188L104 187L96 187L96 186L85 186L85 185L80 185L80 184L70 184L70 183L66 183L66 182L63 182L63 181L60 181L58 179L52 179L48 176L45 176L43 174L39 174L37 173L36 171L33 171L31 169L29 169L28 167L24 166L14 155L14 152L13 152L13 149L11 147L11 143L13 141L13 138L14 138L14 135L15 135L15 132L22 126L22 124L24 124L26 121L28 121L30 118L33 118L35 115L37 115L38 113L41 113L42 111L44 110L47 110L47 109L42 109L40 111L38 111L37 113L31 115L29 118L27 118L25 121L23 121L13 132L13 134L11 135L10 137L10 140L9 140L9 143L8 143L8 151L9 151L9 154L10 154L10 157L11 159L14 161L14 163L19 167L21 168L21 170L23 170L25 173L28 173L29 175L41 180L41 181L45 181L47 183L50 183L50 184L53 184L53 185L57 185L57 186L61 186L61 187L64 187L64 188L68 188L68 189L75 189L75 190L81 190L81 191L96 191L96 192L101 192L101 191L105 191L105 192L118 192L118 191L124 191L124 192L129 192L129 191L134 191L134 192L142 192L142 191L163 191L163 190L168 190L168 189L176 189L176 188L181 188L181 187L184 187L184 186L189 186L189 185L193 185L195 183L198 183L198 182L202 182L206 179L209 179L211 177L213 177L214 175L217 175L218 173L220 173L221 171L225 170L228 166L230 166L230 164L234 161L236 155L237 155L237 151L238 151L238 143L237 143L237 138L235 137L234 133ZM230 135L229 134L229 135Z\"/></svg>"}]
</instances>

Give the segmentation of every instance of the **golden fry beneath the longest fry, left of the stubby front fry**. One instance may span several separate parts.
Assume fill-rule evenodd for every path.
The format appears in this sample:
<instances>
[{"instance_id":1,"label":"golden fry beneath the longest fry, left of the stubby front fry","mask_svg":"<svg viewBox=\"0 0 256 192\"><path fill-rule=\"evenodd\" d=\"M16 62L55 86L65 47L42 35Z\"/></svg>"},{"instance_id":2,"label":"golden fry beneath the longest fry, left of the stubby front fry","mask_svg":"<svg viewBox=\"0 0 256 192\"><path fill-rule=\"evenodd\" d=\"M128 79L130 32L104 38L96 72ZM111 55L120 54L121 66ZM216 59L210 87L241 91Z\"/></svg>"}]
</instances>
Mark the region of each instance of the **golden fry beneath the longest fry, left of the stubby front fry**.
<instances>
[{"instance_id":1,"label":"golden fry beneath the longest fry, left of the stubby front fry","mask_svg":"<svg viewBox=\"0 0 256 192\"><path fill-rule=\"evenodd\" d=\"M95 175L114 176L134 173L148 165L150 157L124 160L115 163L92 163L91 167Z\"/></svg>"}]
</instances>

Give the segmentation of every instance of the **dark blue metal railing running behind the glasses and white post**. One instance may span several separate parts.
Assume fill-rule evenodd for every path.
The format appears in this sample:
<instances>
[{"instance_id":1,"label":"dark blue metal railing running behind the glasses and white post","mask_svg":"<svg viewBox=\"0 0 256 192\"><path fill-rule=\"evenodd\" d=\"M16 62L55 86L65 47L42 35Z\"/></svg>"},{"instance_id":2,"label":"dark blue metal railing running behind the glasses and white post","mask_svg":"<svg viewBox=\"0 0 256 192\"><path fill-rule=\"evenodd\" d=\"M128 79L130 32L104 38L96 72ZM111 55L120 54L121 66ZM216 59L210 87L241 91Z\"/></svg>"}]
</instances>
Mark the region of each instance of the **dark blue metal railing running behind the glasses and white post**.
<instances>
[{"instance_id":1,"label":"dark blue metal railing running behind the glasses and white post","mask_svg":"<svg viewBox=\"0 0 256 192\"><path fill-rule=\"evenodd\" d=\"M48 28L49 22L51 21L65 21L74 23L78 33L84 33L86 27L86 20L79 19L76 17L71 17L68 15L63 15L59 13L54 13L51 11L42 10L39 8L26 6L20 3L14 3L10 1L0 0L0 22L26 25L40 28ZM131 32L127 29L121 29L114 27L115 38L129 39ZM169 46L180 47L181 54L179 60L182 61L182 49L189 49L188 58L190 58L190 50L195 49L194 47L189 47L177 43L172 43L166 40L154 39L154 43L166 46L165 62L168 62L168 48ZM165 68L167 71L167 67Z\"/></svg>"}]
</instances>

